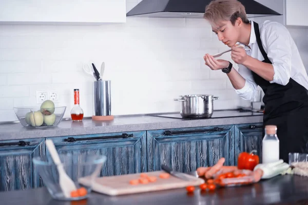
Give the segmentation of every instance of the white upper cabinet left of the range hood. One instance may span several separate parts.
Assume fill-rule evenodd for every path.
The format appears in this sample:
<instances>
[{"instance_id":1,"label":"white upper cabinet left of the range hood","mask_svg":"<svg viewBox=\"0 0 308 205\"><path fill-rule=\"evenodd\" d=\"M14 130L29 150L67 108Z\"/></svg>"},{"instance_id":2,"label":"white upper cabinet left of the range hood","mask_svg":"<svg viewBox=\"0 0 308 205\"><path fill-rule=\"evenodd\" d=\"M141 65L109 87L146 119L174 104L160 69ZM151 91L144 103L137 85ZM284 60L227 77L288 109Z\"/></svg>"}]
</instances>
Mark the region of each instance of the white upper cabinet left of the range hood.
<instances>
[{"instance_id":1,"label":"white upper cabinet left of the range hood","mask_svg":"<svg viewBox=\"0 0 308 205\"><path fill-rule=\"evenodd\" d=\"M125 23L125 0L0 0L0 23Z\"/></svg>"}]
</instances>

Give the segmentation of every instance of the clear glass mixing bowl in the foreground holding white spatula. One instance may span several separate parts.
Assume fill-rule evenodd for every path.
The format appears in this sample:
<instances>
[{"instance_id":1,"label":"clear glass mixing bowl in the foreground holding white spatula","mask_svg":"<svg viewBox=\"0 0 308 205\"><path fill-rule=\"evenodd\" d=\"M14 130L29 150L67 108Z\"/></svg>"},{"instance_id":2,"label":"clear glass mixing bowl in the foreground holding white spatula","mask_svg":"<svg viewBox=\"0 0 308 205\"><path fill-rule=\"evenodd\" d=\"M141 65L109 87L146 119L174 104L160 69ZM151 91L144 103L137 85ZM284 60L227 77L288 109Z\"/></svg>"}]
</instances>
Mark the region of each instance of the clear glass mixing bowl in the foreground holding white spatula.
<instances>
[{"instance_id":1,"label":"clear glass mixing bowl in the foreground holding white spatula","mask_svg":"<svg viewBox=\"0 0 308 205\"><path fill-rule=\"evenodd\" d=\"M106 156L95 154L60 154L60 159L67 175L74 181L76 188L85 188L87 194L66 198L59 183L59 172L50 155L44 157L34 157L34 169L43 179L44 186L54 199L59 200L81 200L88 197L92 190L92 181L99 176L102 166L106 161ZM79 180L89 180L89 186L83 186Z\"/></svg>"}]
</instances>

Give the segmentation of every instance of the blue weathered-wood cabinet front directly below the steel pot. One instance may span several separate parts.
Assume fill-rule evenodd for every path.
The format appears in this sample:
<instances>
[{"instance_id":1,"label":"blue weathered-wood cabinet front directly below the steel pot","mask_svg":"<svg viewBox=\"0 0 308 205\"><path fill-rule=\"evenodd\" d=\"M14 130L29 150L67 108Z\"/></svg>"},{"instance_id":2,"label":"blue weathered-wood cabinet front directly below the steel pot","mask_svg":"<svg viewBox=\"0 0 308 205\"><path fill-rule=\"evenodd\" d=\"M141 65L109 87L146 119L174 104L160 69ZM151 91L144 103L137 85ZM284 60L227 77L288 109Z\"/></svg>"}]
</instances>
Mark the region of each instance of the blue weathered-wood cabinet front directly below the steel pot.
<instances>
[{"instance_id":1,"label":"blue weathered-wood cabinet front directly below the steel pot","mask_svg":"<svg viewBox=\"0 0 308 205\"><path fill-rule=\"evenodd\" d=\"M164 164L189 172L213 166L221 157L225 165L234 165L233 131L233 126L148 131L148 171Z\"/></svg>"}]
</instances>

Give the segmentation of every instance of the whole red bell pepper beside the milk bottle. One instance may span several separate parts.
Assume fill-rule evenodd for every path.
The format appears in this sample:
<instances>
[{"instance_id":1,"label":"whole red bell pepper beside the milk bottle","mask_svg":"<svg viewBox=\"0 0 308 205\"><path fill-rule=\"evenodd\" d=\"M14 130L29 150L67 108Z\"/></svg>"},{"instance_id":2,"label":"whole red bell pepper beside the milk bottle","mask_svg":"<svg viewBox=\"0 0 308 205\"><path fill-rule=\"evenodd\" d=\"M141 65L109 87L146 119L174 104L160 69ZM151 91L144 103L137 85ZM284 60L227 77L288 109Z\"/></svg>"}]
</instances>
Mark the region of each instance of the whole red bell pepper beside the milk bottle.
<instances>
[{"instance_id":1,"label":"whole red bell pepper beside the milk bottle","mask_svg":"<svg viewBox=\"0 0 308 205\"><path fill-rule=\"evenodd\" d=\"M240 170L254 170L259 163L259 156L255 155L253 150L251 153L242 152L238 156L238 168Z\"/></svg>"}]
</instances>

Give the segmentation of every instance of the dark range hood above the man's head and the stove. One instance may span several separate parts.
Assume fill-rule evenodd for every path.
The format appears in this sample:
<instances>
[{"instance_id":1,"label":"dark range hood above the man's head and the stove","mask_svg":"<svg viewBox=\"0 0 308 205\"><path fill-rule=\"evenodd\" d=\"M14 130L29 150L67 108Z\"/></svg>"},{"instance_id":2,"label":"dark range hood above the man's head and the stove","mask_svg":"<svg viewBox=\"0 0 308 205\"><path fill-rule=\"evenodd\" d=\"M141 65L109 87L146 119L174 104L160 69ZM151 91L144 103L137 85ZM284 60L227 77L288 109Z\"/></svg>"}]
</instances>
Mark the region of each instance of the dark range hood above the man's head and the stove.
<instances>
[{"instance_id":1,"label":"dark range hood above the man's head and the stove","mask_svg":"<svg viewBox=\"0 0 308 205\"><path fill-rule=\"evenodd\" d=\"M132 8L126 16L203 18L206 5L211 0L143 0ZM256 1L238 0L248 17L282 15Z\"/></svg>"}]
</instances>

